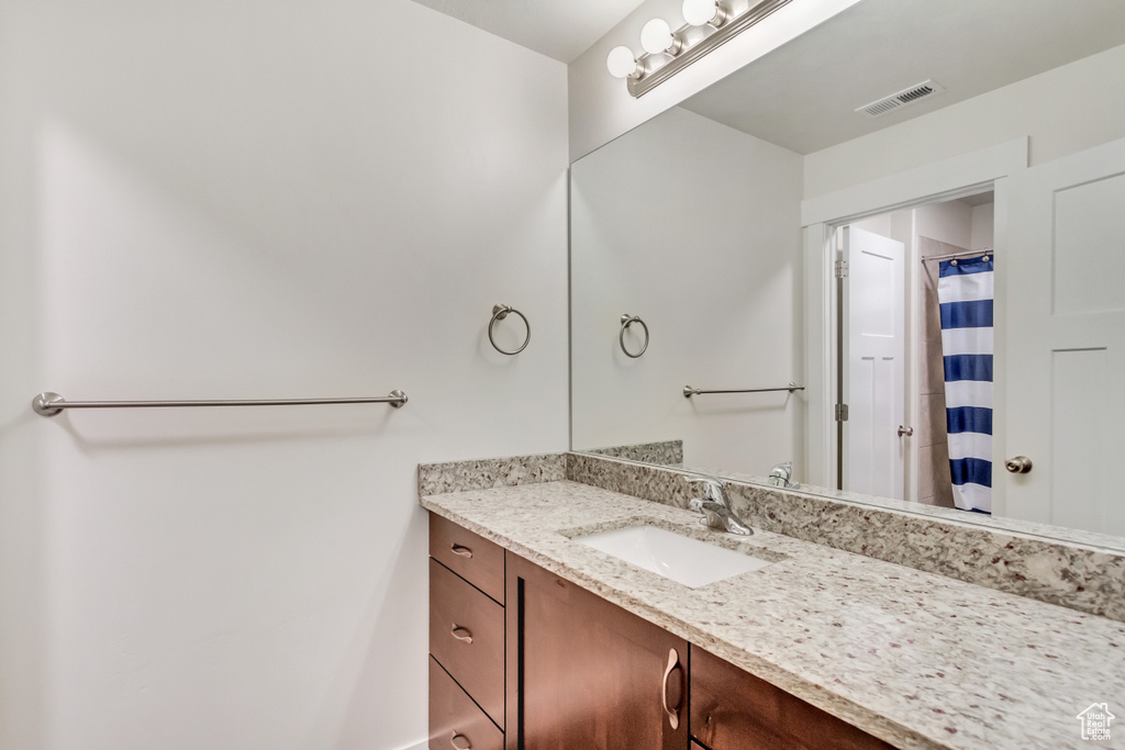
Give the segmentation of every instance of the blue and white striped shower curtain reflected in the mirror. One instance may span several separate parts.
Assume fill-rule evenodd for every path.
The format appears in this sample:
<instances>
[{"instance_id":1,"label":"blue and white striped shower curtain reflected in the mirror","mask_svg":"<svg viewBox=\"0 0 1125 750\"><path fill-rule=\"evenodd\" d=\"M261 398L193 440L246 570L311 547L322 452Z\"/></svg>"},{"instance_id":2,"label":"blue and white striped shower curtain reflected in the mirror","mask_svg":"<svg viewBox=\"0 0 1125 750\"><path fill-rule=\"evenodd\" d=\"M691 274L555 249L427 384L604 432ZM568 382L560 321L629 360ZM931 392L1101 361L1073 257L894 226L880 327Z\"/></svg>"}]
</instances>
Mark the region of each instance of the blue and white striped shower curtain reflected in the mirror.
<instances>
[{"instance_id":1,"label":"blue and white striped shower curtain reflected in the mirror","mask_svg":"<svg viewBox=\"0 0 1125 750\"><path fill-rule=\"evenodd\" d=\"M945 412L953 501L992 512L992 255L942 261Z\"/></svg>"}]
</instances>

